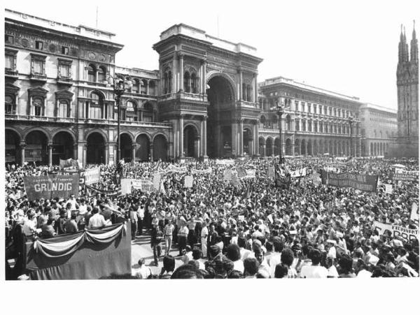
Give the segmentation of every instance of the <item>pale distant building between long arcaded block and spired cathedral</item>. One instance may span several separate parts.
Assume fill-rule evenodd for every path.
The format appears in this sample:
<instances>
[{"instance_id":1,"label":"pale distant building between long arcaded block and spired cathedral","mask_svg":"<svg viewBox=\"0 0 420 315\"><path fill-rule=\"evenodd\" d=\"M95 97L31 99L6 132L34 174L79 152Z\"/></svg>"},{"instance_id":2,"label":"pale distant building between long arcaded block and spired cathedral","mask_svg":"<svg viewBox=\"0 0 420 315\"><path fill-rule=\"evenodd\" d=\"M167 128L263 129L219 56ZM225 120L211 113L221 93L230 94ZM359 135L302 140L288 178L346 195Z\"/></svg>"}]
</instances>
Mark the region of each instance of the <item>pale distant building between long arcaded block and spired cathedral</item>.
<instances>
[{"instance_id":1,"label":"pale distant building between long arcaded block and spired cathedral","mask_svg":"<svg viewBox=\"0 0 420 315\"><path fill-rule=\"evenodd\" d=\"M397 137L397 111L365 103L360 106L362 156L385 156Z\"/></svg>"}]
</instances>

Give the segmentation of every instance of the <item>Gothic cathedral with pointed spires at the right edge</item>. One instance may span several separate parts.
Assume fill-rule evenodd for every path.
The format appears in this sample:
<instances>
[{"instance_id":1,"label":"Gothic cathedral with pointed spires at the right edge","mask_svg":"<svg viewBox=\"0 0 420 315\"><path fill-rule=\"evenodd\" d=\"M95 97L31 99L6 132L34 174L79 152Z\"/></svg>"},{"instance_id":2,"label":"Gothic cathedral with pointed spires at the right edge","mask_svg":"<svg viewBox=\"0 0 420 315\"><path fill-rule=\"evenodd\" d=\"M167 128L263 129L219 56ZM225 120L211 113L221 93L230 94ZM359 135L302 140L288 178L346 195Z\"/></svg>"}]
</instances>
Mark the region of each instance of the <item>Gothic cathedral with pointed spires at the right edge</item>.
<instances>
[{"instance_id":1,"label":"Gothic cathedral with pointed spires at the right edge","mask_svg":"<svg viewBox=\"0 0 420 315\"><path fill-rule=\"evenodd\" d=\"M400 34L397 66L398 144L391 156L419 156L419 45L413 27L410 52L405 29Z\"/></svg>"}]
</instances>

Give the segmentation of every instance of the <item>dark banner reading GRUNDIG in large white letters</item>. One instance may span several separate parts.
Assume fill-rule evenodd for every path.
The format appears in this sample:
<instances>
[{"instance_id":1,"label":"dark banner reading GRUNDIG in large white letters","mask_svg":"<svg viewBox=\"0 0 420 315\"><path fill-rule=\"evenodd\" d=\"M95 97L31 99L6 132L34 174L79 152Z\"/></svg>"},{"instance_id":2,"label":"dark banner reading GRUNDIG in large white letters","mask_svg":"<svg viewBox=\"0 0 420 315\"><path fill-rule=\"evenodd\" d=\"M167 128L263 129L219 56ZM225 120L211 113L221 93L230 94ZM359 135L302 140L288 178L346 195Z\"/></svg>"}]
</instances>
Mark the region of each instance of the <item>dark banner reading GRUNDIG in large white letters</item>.
<instances>
[{"instance_id":1,"label":"dark banner reading GRUNDIG in large white letters","mask_svg":"<svg viewBox=\"0 0 420 315\"><path fill-rule=\"evenodd\" d=\"M78 196L78 175L48 175L23 177L25 191L29 200L69 198L73 193Z\"/></svg>"}]
</instances>

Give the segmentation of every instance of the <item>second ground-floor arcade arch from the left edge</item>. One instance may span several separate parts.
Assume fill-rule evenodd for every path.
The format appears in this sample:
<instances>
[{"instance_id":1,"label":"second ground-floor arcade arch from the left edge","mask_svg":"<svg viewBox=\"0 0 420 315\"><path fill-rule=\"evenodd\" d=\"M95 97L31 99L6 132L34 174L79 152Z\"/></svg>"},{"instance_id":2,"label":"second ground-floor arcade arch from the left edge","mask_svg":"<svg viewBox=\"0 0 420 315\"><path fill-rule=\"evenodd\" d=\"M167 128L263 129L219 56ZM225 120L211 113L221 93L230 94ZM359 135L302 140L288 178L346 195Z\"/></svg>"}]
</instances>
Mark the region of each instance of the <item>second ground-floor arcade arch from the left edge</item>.
<instances>
[{"instance_id":1,"label":"second ground-floor arcade arch from the left edge","mask_svg":"<svg viewBox=\"0 0 420 315\"><path fill-rule=\"evenodd\" d=\"M47 164L48 138L42 131L31 131L25 138L25 161Z\"/></svg>"}]
</instances>

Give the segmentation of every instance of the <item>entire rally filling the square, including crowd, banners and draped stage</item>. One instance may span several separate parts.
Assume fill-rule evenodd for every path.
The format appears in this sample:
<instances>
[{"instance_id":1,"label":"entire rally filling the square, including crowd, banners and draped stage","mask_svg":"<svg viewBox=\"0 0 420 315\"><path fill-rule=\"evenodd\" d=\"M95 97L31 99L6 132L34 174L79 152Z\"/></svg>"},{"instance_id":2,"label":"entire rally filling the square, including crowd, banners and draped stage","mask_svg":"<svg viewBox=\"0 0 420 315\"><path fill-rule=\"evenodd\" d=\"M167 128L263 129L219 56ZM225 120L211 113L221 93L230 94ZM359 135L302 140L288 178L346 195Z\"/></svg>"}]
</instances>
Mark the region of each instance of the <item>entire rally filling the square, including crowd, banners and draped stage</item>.
<instances>
[{"instance_id":1,"label":"entire rally filling the square, including crowd, banners and draped stage","mask_svg":"<svg viewBox=\"0 0 420 315\"><path fill-rule=\"evenodd\" d=\"M6 165L6 279L419 277L419 161Z\"/></svg>"}]
</instances>

